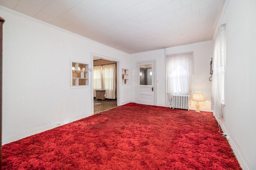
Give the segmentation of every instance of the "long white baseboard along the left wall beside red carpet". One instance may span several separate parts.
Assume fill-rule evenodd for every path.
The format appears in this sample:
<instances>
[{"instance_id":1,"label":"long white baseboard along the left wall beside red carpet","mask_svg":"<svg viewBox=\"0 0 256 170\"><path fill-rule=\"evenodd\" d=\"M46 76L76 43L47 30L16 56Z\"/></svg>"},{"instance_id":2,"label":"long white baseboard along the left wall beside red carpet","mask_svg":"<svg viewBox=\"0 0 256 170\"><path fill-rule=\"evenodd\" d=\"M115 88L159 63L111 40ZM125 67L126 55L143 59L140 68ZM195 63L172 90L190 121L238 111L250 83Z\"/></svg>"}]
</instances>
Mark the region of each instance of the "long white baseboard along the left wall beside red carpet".
<instances>
[{"instance_id":1,"label":"long white baseboard along the left wall beside red carpet","mask_svg":"<svg viewBox=\"0 0 256 170\"><path fill-rule=\"evenodd\" d=\"M20 131L16 131L14 133L8 134L8 135L3 135L2 137L2 145L5 145L7 143L11 143L14 141L18 141L20 139L23 139L25 137L29 137L31 135L35 135L37 133L41 133L44 131L48 131L50 129L54 129L55 127L61 126L61 125L65 125L67 123L70 123L72 121L77 121L80 120L82 118L87 117L86 115L81 115L78 117L72 117L69 119L62 119L62 120L58 120L58 121L54 121L54 122L50 122L50 123L45 123L43 125L39 125L36 127L32 127L29 129L22 129ZM57 125L57 123L60 123L60 125Z\"/></svg>"}]
</instances>

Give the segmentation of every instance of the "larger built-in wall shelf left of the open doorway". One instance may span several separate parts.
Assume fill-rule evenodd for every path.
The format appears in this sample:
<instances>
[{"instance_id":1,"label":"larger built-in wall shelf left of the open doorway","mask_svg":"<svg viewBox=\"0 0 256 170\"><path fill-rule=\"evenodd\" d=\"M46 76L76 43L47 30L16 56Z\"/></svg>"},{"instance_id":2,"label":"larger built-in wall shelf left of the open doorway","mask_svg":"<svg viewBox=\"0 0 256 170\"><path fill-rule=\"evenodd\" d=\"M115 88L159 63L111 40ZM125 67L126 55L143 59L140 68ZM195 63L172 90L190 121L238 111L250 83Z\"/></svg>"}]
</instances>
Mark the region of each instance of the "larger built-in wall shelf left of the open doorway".
<instances>
[{"instance_id":1,"label":"larger built-in wall shelf left of the open doorway","mask_svg":"<svg viewBox=\"0 0 256 170\"><path fill-rule=\"evenodd\" d=\"M89 65L85 63L72 62L70 86L89 85Z\"/></svg>"}]
</instances>

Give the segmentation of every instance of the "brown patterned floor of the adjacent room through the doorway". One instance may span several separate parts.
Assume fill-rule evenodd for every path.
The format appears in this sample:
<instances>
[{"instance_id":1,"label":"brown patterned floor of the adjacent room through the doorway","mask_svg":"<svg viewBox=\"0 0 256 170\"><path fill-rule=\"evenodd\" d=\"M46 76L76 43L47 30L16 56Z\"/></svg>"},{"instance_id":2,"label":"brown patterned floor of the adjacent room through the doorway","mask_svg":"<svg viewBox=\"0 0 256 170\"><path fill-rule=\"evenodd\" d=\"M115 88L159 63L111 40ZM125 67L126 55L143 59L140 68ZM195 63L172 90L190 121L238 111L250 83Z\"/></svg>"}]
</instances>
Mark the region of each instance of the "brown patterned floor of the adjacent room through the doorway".
<instances>
[{"instance_id":1,"label":"brown patterned floor of the adjacent room through the doorway","mask_svg":"<svg viewBox=\"0 0 256 170\"><path fill-rule=\"evenodd\" d=\"M117 107L116 99L96 100L94 98L94 114Z\"/></svg>"}]
</instances>

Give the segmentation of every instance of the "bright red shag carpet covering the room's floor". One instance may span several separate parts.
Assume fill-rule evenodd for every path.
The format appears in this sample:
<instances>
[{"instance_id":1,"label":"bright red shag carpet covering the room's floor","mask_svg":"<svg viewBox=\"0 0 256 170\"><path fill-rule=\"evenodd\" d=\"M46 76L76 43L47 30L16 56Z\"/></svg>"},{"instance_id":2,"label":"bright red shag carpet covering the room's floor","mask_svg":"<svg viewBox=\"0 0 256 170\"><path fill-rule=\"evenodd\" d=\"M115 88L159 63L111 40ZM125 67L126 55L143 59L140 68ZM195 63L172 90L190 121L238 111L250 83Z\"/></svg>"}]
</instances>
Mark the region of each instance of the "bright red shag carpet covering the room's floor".
<instances>
[{"instance_id":1,"label":"bright red shag carpet covering the room's floor","mask_svg":"<svg viewBox=\"0 0 256 170\"><path fill-rule=\"evenodd\" d=\"M212 118L130 103L2 146L2 169L240 170Z\"/></svg>"}]
</instances>

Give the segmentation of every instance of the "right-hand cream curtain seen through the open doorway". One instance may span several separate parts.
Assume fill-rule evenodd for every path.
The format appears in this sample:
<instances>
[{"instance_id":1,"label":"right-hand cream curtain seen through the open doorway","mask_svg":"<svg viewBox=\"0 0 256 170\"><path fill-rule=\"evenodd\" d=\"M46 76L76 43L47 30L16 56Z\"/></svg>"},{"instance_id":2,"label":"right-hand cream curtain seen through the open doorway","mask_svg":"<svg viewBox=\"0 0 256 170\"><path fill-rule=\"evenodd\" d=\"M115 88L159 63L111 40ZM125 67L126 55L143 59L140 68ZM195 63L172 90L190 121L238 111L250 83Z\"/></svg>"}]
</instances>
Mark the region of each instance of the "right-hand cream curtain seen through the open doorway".
<instances>
[{"instance_id":1,"label":"right-hand cream curtain seen through the open doorway","mask_svg":"<svg viewBox=\"0 0 256 170\"><path fill-rule=\"evenodd\" d=\"M116 98L116 64L102 66L102 80L106 98Z\"/></svg>"}]
</instances>

